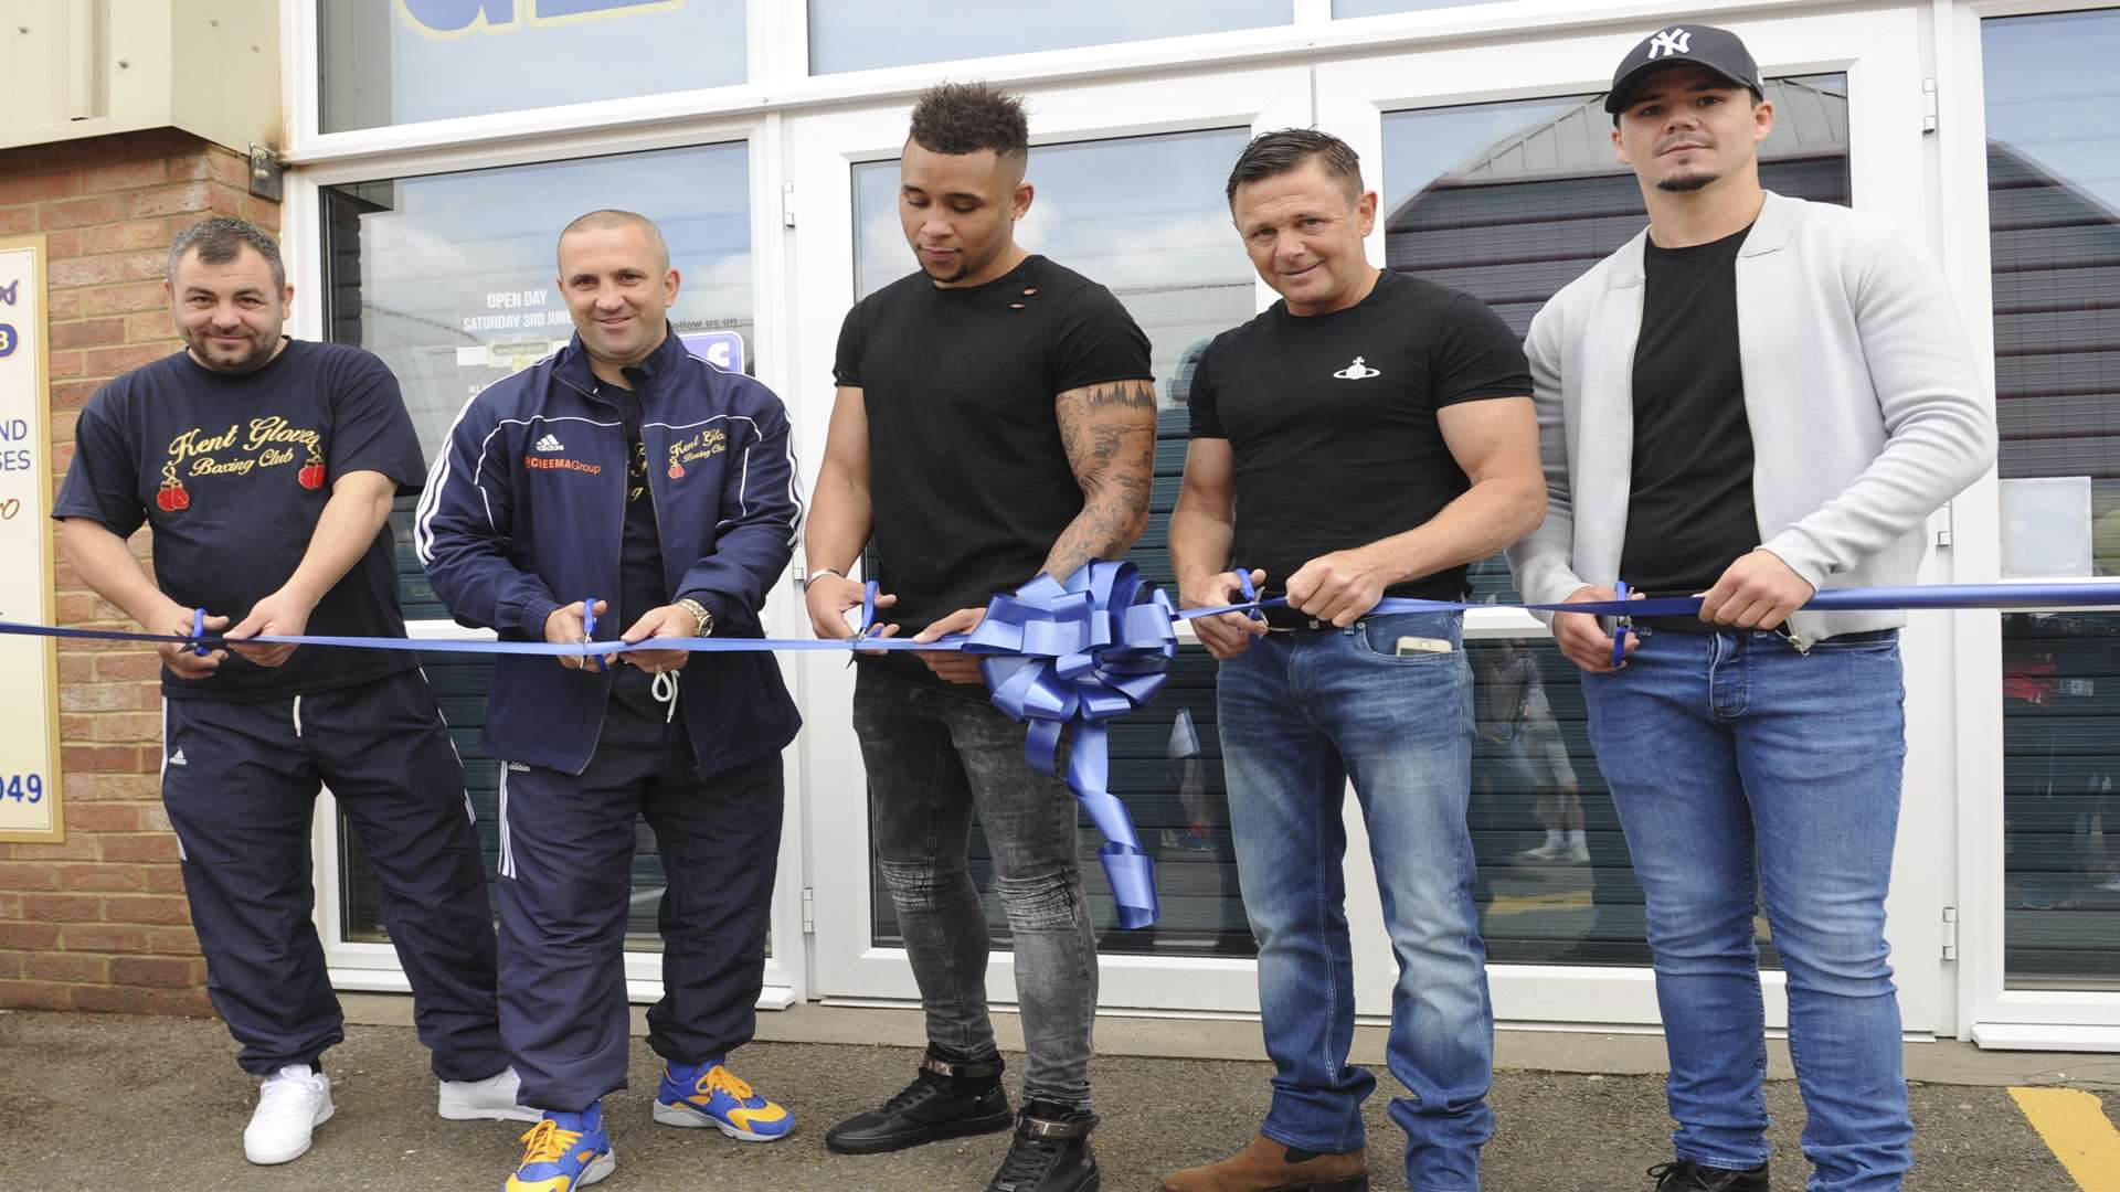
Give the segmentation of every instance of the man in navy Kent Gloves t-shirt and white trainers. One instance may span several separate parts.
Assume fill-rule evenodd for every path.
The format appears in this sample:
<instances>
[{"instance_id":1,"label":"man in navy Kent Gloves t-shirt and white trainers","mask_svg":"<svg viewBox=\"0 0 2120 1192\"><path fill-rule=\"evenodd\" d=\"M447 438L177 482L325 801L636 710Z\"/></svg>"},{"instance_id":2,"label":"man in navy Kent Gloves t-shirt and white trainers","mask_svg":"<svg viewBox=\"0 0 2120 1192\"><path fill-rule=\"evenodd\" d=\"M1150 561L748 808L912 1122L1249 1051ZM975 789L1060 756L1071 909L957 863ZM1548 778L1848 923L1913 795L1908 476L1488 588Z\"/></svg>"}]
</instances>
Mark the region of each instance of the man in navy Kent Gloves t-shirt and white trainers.
<instances>
[{"instance_id":1,"label":"man in navy Kent Gloves t-shirt and white trainers","mask_svg":"<svg viewBox=\"0 0 2120 1192\"><path fill-rule=\"evenodd\" d=\"M403 651L235 645L405 636L388 515L424 477L396 378L360 348L280 333L280 248L240 218L170 246L187 348L95 392L53 511L66 558L151 632L195 611L231 649L161 647L163 804L214 1010L265 1077L250 1162L288 1162L333 1114L343 1037L312 925L310 808L329 783L384 893L443 1118L517 1118L494 1016L494 929L464 768ZM125 539L155 530L153 579ZM231 626L233 621L233 626Z\"/></svg>"}]
</instances>

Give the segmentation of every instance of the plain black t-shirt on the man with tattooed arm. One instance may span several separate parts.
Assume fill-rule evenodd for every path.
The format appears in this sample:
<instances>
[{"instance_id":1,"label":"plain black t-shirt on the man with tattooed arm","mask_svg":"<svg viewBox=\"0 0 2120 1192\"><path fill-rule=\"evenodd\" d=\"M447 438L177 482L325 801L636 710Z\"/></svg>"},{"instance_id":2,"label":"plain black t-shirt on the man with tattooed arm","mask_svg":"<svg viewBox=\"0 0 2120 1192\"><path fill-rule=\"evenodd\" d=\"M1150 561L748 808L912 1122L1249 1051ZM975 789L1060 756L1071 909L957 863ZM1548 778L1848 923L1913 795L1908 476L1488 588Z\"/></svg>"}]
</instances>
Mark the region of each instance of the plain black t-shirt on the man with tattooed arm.
<instances>
[{"instance_id":1,"label":"plain black t-shirt on the man with tattooed arm","mask_svg":"<svg viewBox=\"0 0 2120 1192\"><path fill-rule=\"evenodd\" d=\"M909 636L1035 577L1081 513L1054 399L1153 373L1111 291L1026 257L984 286L912 274L861 299L833 375L869 414L876 579ZM929 677L903 653L863 662Z\"/></svg>"}]
</instances>

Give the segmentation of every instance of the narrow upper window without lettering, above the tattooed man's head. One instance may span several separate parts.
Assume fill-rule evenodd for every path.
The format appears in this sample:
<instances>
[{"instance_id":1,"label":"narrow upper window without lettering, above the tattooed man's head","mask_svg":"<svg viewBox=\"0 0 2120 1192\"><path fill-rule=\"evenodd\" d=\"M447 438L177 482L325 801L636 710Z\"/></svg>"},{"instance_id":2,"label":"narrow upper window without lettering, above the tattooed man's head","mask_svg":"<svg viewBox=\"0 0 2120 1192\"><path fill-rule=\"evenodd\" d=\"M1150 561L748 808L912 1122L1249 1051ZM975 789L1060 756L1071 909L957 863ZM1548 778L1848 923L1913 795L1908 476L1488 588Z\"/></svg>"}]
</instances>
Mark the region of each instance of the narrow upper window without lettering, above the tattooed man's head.
<instances>
[{"instance_id":1,"label":"narrow upper window without lettering, above the tattooed man's head","mask_svg":"<svg viewBox=\"0 0 2120 1192\"><path fill-rule=\"evenodd\" d=\"M977 13L977 15L971 15ZM810 0L810 74L1287 25L1295 0Z\"/></svg>"}]
</instances>

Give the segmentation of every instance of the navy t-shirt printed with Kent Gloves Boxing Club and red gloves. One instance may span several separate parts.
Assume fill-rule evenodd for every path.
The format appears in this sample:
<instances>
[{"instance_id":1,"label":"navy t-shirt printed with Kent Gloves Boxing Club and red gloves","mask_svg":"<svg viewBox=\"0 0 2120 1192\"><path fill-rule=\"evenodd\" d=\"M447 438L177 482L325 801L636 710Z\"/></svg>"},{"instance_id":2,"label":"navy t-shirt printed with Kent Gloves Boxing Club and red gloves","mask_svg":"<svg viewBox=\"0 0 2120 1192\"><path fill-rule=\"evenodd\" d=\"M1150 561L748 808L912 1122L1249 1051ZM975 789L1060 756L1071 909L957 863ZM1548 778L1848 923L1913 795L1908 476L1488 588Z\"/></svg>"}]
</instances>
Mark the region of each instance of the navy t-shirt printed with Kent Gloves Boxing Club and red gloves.
<instances>
[{"instance_id":1,"label":"navy t-shirt printed with Kent Gloves Boxing Club and red gloves","mask_svg":"<svg viewBox=\"0 0 2120 1192\"><path fill-rule=\"evenodd\" d=\"M420 439L382 361L288 339L263 369L229 375L178 352L95 390L53 518L89 518L119 537L148 522L161 590L235 626L295 575L331 481L352 471L382 473L399 492L424 481ZM307 632L405 636L388 524L310 613ZM208 679L163 672L163 694L269 700L413 666L401 651L303 647L276 668L231 653Z\"/></svg>"}]
</instances>

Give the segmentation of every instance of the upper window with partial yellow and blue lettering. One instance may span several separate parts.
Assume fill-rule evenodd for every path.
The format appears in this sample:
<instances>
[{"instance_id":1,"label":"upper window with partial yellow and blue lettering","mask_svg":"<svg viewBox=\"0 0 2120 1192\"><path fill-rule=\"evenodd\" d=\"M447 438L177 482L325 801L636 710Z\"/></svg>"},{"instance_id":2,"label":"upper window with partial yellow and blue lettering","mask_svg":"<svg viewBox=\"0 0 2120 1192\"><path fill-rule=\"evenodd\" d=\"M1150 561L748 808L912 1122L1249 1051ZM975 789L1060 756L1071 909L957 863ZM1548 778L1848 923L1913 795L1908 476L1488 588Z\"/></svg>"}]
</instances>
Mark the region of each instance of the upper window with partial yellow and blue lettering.
<instances>
[{"instance_id":1,"label":"upper window with partial yellow and blue lettering","mask_svg":"<svg viewBox=\"0 0 2120 1192\"><path fill-rule=\"evenodd\" d=\"M742 83L744 0L318 0L320 132Z\"/></svg>"}]
</instances>

